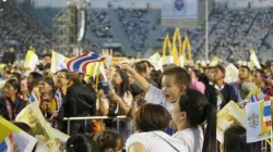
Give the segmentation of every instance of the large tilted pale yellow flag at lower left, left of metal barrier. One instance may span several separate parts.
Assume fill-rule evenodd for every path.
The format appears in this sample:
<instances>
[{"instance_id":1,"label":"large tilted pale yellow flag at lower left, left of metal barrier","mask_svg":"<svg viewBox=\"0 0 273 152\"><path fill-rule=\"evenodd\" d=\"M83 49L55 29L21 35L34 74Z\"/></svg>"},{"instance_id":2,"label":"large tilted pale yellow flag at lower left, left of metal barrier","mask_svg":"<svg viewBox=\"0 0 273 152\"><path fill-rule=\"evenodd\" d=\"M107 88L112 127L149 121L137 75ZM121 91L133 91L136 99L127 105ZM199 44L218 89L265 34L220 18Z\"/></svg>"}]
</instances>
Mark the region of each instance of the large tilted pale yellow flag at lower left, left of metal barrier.
<instances>
[{"instance_id":1,"label":"large tilted pale yellow flag at lower left, left of metal barrier","mask_svg":"<svg viewBox=\"0 0 273 152\"><path fill-rule=\"evenodd\" d=\"M23 122L31 126L35 138L38 139L37 151L45 150L56 152L58 150L49 126L39 110L39 103L33 102L23 109L15 122Z\"/></svg>"}]
</instances>

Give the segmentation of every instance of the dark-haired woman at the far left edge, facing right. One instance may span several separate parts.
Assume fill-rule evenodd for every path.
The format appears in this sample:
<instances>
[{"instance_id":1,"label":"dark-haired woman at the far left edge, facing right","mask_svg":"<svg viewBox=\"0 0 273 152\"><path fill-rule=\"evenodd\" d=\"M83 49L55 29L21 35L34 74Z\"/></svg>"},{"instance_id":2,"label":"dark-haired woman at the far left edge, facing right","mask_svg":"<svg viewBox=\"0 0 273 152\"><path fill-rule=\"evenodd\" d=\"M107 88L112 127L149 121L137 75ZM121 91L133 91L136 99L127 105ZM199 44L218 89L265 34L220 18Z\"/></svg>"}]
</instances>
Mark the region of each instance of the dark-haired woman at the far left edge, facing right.
<instances>
[{"instance_id":1,"label":"dark-haired woman at the far left edge, facing right","mask_svg":"<svg viewBox=\"0 0 273 152\"><path fill-rule=\"evenodd\" d=\"M4 84L3 96L0 99L0 115L5 119L14 121L26 106L26 101L20 98L20 87L16 79L9 79Z\"/></svg>"}]
</instances>

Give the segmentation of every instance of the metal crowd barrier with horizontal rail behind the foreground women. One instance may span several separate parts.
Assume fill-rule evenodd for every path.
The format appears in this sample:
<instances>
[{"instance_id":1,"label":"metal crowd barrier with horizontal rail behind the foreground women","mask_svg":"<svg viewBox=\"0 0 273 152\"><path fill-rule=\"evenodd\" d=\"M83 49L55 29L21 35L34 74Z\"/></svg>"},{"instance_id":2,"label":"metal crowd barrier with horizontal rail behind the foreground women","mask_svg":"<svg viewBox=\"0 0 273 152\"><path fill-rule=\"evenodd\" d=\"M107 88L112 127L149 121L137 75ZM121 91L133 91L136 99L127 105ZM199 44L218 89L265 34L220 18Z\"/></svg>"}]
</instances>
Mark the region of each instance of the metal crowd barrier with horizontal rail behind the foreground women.
<instances>
[{"instance_id":1,"label":"metal crowd barrier with horizontal rail behind the foreground women","mask_svg":"<svg viewBox=\"0 0 273 152\"><path fill-rule=\"evenodd\" d=\"M68 122L68 135L70 135L70 122L71 121L84 121L84 129L86 132L86 126L87 126L87 122L90 119L99 119L100 121L100 127L103 126L103 121L104 119L117 119L117 131L119 134L119 119L121 118L127 118L126 115L120 115L120 116L116 116L116 117L109 117L109 116L83 116L83 117L63 117L63 121Z\"/></svg>"}]
</instances>

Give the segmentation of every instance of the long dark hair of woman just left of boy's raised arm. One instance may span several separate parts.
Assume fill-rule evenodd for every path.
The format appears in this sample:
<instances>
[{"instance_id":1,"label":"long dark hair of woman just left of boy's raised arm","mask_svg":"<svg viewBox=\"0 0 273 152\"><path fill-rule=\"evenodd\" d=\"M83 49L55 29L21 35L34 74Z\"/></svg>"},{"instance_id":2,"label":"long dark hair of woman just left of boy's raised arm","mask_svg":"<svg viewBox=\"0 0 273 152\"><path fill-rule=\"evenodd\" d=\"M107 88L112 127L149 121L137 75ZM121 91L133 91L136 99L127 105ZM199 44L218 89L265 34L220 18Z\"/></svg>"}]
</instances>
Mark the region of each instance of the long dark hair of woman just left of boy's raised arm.
<instances>
[{"instance_id":1,"label":"long dark hair of woman just left of boy's raised arm","mask_svg":"<svg viewBox=\"0 0 273 152\"><path fill-rule=\"evenodd\" d=\"M126 72L121 71L121 69L117 69L117 72L119 73L122 83L120 84L119 87L119 97L123 97L126 94L127 91L131 92L131 88L130 88L130 81L129 81L129 76Z\"/></svg>"}]
</instances>

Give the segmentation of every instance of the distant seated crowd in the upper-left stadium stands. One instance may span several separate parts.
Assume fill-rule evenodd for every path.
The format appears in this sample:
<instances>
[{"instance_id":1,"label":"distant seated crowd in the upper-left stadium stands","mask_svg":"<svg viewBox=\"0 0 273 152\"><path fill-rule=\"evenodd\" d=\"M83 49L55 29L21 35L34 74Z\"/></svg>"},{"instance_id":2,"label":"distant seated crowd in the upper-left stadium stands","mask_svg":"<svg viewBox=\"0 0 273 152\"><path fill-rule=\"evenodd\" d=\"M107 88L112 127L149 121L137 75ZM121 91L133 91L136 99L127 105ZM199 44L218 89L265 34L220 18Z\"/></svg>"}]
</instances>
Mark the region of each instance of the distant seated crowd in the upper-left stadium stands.
<instances>
[{"instance_id":1,"label":"distant seated crowd in the upper-left stadium stands","mask_svg":"<svg viewBox=\"0 0 273 152\"><path fill-rule=\"evenodd\" d=\"M0 17L1 52L7 46L13 46L20 52L25 53L29 45L36 46L37 49L45 49L51 45L44 27L16 4L2 2Z\"/></svg>"}]
</instances>

